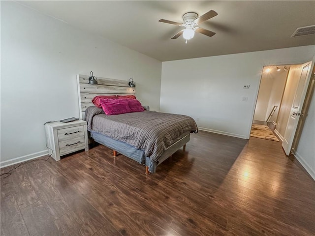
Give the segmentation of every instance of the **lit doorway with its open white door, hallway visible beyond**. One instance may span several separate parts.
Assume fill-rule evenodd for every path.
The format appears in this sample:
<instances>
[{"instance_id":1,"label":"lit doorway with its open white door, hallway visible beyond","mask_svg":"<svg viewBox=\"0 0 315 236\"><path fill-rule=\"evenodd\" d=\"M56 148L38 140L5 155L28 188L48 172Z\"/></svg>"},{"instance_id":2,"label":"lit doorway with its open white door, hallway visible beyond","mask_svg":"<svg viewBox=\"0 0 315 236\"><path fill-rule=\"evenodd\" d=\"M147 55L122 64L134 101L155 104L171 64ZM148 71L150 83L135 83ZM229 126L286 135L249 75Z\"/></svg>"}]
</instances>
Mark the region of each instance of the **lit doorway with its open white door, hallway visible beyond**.
<instances>
[{"instance_id":1,"label":"lit doorway with its open white door, hallway visible beyond","mask_svg":"<svg viewBox=\"0 0 315 236\"><path fill-rule=\"evenodd\" d=\"M282 66L265 66L263 68L252 126L257 122L255 119L265 119L258 122L266 122L267 127L273 129L274 133L282 141L286 155L290 154L300 115L304 116L305 114L305 112L302 112L303 107L305 107L304 98L312 77L311 68L314 67L314 61L315 58L313 58L313 61L304 64L284 65L283 70L286 73L284 73L283 80L281 80L281 73L276 73L276 71L282 72ZM270 76L271 73L273 76ZM271 81L270 78L273 80ZM266 87L271 89L266 89ZM281 90L283 91L282 93ZM264 114L266 111L261 109L263 107L261 104L267 109L271 106L273 107L268 117L266 113ZM276 112L278 107L279 110Z\"/></svg>"}]
</instances>

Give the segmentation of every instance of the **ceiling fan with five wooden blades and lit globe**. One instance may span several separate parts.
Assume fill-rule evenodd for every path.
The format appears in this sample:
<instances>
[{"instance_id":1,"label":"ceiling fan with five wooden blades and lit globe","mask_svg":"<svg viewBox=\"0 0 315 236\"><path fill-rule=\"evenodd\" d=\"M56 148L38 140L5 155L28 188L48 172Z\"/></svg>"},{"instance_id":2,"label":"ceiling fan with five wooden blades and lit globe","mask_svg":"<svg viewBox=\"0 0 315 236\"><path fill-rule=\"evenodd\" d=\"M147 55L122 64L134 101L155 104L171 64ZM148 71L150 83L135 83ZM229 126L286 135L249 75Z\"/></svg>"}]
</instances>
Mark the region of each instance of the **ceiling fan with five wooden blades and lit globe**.
<instances>
[{"instance_id":1,"label":"ceiling fan with five wooden blades and lit globe","mask_svg":"<svg viewBox=\"0 0 315 236\"><path fill-rule=\"evenodd\" d=\"M185 27L185 29L182 29L177 34L175 34L172 37L172 39L176 39L183 34L183 37L186 39L186 43L187 43L187 40L193 38L195 32L202 33L209 37L212 37L213 35L215 35L216 34L215 32L212 32L208 29L200 28L198 27L198 25L206 20L209 20L212 17L215 17L216 15L218 15L218 13L215 12L214 10L210 10L199 17L198 17L198 14L195 12L187 12L183 15L183 23L164 20L164 19L160 19L159 22L168 23L168 24L172 24L172 25L176 25L180 27Z\"/></svg>"}]
</instances>

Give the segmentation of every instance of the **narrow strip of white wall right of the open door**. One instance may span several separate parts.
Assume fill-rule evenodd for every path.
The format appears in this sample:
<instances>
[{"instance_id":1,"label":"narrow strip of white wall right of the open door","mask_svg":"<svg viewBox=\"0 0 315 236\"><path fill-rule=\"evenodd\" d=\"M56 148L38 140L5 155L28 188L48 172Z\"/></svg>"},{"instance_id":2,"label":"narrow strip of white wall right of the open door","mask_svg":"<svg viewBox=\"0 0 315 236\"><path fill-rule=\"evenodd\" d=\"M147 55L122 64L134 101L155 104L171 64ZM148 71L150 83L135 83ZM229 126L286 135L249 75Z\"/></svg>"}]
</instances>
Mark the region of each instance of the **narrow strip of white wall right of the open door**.
<instances>
[{"instance_id":1,"label":"narrow strip of white wall right of the open door","mask_svg":"<svg viewBox=\"0 0 315 236\"><path fill-rule=\"evenodd\" d=\"M295 157L303 167L315 179L315 92L311 99L311 104L304 128L296 148Z\"/></svg>"}]
</instances>

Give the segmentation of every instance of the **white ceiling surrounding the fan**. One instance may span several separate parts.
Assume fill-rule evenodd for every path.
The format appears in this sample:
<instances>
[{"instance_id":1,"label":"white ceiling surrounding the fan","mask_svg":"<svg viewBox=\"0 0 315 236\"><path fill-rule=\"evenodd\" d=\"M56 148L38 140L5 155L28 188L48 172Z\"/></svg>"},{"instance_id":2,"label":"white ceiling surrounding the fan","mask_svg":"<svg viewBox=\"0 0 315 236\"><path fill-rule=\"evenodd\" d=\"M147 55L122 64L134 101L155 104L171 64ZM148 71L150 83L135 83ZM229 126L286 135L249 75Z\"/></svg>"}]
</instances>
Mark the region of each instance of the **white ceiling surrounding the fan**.
<instances>
[{"instance_id":1,"label":"white ceiling surrounding the fan","mask_svg":"<svg viewBox=\"0 0 315 236\"><path fill-rule=\"evenodd\" d=\"M160 61L209 57L315 44L315 35L291 38L297 27L315 25L315 1L19 1L86 33L100 35ZM185 44L182 28L159 19L182 22L193 11L218 16L200 27Z\"/></svg>"}]
</instances>

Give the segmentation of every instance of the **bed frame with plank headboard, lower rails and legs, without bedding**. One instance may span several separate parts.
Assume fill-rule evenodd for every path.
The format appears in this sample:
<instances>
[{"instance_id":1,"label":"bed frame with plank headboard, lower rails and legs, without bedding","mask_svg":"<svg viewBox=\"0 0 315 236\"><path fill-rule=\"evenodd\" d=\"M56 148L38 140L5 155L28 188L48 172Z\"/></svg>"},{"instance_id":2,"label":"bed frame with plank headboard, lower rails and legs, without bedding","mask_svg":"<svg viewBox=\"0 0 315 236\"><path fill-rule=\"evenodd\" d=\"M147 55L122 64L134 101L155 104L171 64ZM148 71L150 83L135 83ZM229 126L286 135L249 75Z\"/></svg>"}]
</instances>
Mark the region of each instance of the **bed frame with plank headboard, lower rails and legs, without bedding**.
<instances>
[{"instance_id":1,"label":"bed frame with plank headboard, lower rails and legs, without bedding","mask_svg":"<svg viewBox=\"0 0 315 236\"><path fill-rule=\"evenodd\" d=\"M80 119L85 117L85 110L94 106L92 103L92 99L97 95L135 95L136 89L135 87L130 88L128 86L129 81L124 80L115 80L108 78L97 77L97 84L90 85L89 84L89 75L77 75L77 85L78 85L78 98L79 98L79 110L80 110ZM177 141L170 147L166 148L163 154L159 157L158 162L151 162L149 157L146 157L145 166L146 166L146 175L150 173L154 173L159 164L161 164L164 160L166 160L169 156L173 155L179 148L183 147L184 151L186 148L186 143L189 142L190 134L186 135L181 140ZM97 143L100 143L108 148L110 147L108 143L104 142L102 139L95 139ZM118 142L118 141L117 141ZM134 157L129 156L124 153L124 148L113 149L113 156L117 156L117 152L136 160ZM126 148L126 147L125 147ZM133 147L129 147L133 148ZM136 148L134 148L136 149Z\"/></svg>"}]
</instances>

